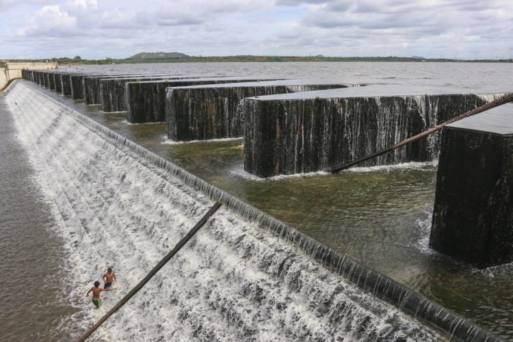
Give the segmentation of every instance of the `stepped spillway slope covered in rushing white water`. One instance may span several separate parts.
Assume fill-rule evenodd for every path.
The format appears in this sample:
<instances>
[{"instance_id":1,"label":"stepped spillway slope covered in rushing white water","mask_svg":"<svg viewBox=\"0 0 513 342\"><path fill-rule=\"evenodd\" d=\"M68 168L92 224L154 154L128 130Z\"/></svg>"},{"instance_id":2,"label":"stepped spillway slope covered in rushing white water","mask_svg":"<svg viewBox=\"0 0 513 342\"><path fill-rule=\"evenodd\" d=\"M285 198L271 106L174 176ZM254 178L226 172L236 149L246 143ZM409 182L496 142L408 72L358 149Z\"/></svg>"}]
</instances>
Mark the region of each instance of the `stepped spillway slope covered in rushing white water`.
<instances>
[{"instance_id":1,"label":"stepped spillway slope covered in rushing white water","mask_svg":"<svg viewBox=\"0 0 513 342\"><path fill-rule=\"evenodd\" d=\"M84 279L108 262L124 295L214 198L224 202L98 339L437 339L395 306L453 340L500 341L21 82L8 103ZM81 310L90 312L86 303Z\"/></svg>"}]
</instances>

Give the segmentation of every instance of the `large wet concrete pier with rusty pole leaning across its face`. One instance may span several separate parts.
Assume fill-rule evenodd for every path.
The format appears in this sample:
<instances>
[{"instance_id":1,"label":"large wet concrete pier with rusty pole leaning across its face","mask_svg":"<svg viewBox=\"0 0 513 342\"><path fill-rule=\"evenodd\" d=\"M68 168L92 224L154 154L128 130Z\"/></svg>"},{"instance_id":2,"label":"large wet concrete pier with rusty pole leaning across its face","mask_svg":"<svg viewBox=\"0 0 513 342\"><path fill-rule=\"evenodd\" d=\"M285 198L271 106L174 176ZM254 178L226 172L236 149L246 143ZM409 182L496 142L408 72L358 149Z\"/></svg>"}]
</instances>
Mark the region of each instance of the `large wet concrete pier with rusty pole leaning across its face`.
<instances>
[{"instance_id":1,"label":"large wet concrete pier with rusty pole leaning across its face","mask_svg":"<svg viewBox=\"0 0 513 342\"><path fill-rule=\"evenodd\" d=\"M326 170L503 95L457 94L449 88L425 91L367 86L246 98L244 170L262 177ZM361 166L432 161L440 149L439 137L435 133Z\"/></svg>"}]
</instances>

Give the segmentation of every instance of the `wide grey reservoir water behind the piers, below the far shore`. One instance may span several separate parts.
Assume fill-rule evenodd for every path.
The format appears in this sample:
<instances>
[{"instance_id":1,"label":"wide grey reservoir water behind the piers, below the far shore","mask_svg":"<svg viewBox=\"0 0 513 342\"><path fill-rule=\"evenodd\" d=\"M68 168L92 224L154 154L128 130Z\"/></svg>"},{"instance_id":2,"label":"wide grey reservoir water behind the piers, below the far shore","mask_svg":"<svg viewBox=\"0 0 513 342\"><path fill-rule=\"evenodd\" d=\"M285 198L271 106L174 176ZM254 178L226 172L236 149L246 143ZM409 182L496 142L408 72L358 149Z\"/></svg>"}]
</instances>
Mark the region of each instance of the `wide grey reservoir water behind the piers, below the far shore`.
<instances>
[{"instance_id":1,"label":"wide grey reservoir water behind the piers, below the far shore","mask_svg":"<svg viewBox=\"0 0 513 342\"><path fill-rule=\"evenodd\" d=\"M402 88L447 87L469 92L502 92L512 86L512 64L395 63L395 62L286 62L286 63L176 63L77 66L79 71L170 73L264 78L315 79L337 83L382 83Z\"/></svg>"}]
</instances>

